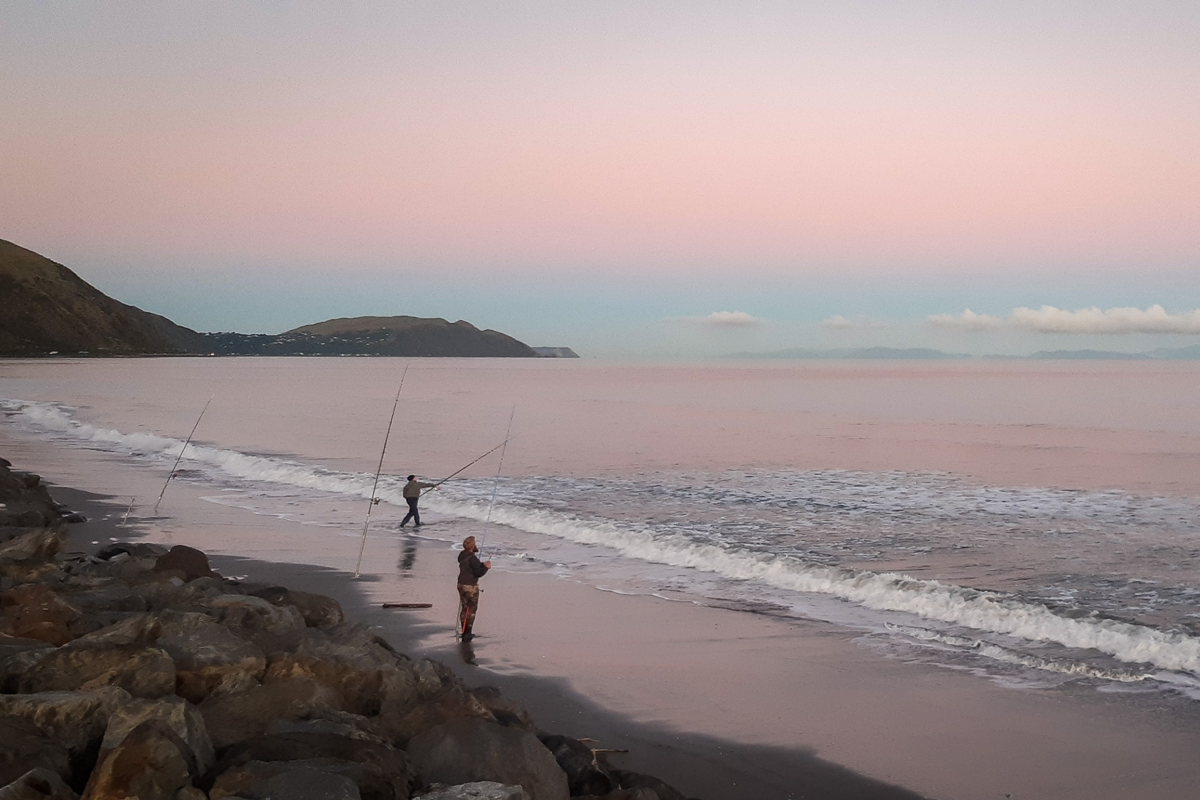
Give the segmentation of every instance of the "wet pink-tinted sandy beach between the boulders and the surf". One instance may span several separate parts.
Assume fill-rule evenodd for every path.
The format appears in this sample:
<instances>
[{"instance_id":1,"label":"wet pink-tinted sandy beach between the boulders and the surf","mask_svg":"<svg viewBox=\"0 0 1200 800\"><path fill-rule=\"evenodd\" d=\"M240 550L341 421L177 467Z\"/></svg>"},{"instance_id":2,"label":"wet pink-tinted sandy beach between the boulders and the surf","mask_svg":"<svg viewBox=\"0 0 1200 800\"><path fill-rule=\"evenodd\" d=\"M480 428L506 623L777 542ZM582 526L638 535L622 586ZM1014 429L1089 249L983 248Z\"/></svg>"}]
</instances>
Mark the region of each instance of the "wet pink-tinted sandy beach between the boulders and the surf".
<instances>
[{"instance_id":1,"label":"wet pink-tinted sandy beach between the boulders and the surf","mask_svg":"<svg viewBox=\"0 0 1200 800\"><path fill-rule=\"evenodd\" d=\"M62 483L142 497L161 486L100 453L19 449L29 459L13 461ZM481 636L463 651L451 636L446 542L380 530L354 581L355 531L205 501L212 492L175 482L164 517L136 530L223 553L214 561L227 575L336 596L398 648L499 685L547 729L628 747L622 765L697 796L913 796L894 784L947 800L1160 800L1189 798L1200 783L1200 720L1181 698L1004 687L886 657L821 622L617 595L502 565L485 578ZM94 501L109 523L126 503ZM77 529L84 542L125 533L98 522ZM385 601L433 608L384 610Z\"/></svg>"}]
</instances>

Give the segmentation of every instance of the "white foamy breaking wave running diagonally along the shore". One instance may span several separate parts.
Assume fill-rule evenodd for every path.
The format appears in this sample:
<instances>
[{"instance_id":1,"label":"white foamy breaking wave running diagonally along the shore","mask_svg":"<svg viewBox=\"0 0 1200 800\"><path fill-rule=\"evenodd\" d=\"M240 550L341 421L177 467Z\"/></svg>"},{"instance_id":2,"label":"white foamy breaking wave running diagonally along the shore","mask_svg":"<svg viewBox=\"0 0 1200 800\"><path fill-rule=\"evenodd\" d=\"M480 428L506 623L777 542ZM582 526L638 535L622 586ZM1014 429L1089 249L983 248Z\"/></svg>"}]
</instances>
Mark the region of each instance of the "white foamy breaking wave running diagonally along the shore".
<instances>
[{"instance_id":1,"label":"white foamy breaking wave running diagonally along the shore","mask_svg":"<svg viewBox=\"0 0 1200 800\"><path fill-rule=\"evenodd\" d=\"M168 437L124 434L83 423L48 403L0 401L0 408L36 427L134 453L164 455L184 444ZM372 476L366 474L336 473L265 456L196 445L188 446L186 456L244 480L361 498L371 495ZM390 504L403 505L401 488L398 485L383 487L378 497ZM485 521L487 515L486 504L455 501L445 494L430 498L427 505L444 513L479 522ZM1163 669L1200 674L1200 638L1110 619L1060 616L1045 606L1024 603L991 591L892 572L876 573L808 564L790 555L776 557L703 545L678 534L655 534L610 522L587 522L557 511L498 506L492 512L492 519L534 534L608 547L622 555L643 561L689 567L779 589L828 595L875 610L902 612L1033 642L1094 649L1128 663L1150 663Z\"/></svg>"}]
</instances>

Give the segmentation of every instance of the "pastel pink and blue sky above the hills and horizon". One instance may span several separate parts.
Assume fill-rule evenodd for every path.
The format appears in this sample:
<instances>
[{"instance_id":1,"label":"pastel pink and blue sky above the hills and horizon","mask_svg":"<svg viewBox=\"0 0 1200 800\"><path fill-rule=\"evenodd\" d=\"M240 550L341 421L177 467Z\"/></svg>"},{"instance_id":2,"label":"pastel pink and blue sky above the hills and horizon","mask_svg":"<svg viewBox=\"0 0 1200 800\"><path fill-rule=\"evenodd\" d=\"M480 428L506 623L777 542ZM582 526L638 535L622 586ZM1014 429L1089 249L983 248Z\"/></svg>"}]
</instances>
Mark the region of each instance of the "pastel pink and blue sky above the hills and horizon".
<instances>
[{"instance_id":1,"label":"pastel pink and blue sky above the hills and horizon","mask_svg":"<svg viewBox=\"0 0 1200 800\"><path fill-rule=\"evenodd\" d=\"M0 7L0 239L197 330L1200 343L1196 2Z\"/></svg>"}]
</instances>

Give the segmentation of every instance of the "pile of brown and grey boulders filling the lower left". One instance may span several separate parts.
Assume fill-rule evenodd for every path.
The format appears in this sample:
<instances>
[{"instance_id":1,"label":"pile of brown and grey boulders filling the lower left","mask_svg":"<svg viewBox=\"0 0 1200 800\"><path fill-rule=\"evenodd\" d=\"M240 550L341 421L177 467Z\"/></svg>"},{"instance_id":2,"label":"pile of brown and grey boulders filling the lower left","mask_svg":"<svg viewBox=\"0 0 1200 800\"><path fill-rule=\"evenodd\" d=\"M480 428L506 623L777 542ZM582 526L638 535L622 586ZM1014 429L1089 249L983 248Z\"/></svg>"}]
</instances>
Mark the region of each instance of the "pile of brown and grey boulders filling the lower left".
<instances>
[{"instance_id":1,"label":"pile of brown and grey boulders filling the lower left","mask_svg":"<svg viewBox=\"0 0 1200 800\"><path fill-rule=\"evenodd\" d=\"M2 459L0 506L0 800L685 800L330 597L66 552L71 512Z\"/></svg>"}]
</instances>

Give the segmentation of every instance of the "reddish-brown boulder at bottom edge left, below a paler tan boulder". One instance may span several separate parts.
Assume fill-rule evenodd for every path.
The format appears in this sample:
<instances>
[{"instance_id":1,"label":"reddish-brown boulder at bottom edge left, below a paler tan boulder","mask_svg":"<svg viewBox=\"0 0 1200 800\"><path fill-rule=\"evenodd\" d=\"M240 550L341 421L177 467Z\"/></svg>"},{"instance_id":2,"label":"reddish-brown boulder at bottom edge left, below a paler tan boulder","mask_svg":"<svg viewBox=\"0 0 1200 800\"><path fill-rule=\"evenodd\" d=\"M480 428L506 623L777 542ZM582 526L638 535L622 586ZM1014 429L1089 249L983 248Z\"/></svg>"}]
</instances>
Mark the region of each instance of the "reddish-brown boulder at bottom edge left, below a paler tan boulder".
<instances>
[{"instance_id":1,"label":"reddish-brown boulder at bottom edge left, below a paler tan boulder","mask_svg":"<svg viewBox=\"0 0 1200 800\"><path fill-rule=\"evenodd\" d=\"M102 751L83 800L174 800L191 782L185 745L158 720L143 722Z\"/></svg>"}]
</instances>

